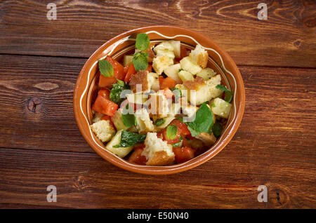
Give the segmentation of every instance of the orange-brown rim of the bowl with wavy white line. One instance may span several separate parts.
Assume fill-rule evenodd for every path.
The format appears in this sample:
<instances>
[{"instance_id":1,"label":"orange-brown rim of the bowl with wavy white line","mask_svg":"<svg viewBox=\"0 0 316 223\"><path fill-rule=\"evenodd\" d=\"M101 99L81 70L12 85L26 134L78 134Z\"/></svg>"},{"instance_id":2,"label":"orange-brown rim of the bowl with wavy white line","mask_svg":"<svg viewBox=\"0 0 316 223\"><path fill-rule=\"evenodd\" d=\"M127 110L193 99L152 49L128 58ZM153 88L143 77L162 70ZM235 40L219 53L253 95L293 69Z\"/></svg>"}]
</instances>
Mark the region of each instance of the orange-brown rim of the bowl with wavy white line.
<instances>
[{"instance_id":1,"label":"orange-brown rim of the bowl with wavy white line","mask_svg":"<svg viewBox=\"0 0 316 223\"><path fill-rule=\"evenodd\" d=\"M118 156L115 156L110 151L107 151L106 149L103 149L103 150L98 149L96 143L93 142L91 137L84 131L84 125L86 125L86 123L82 123L82 121L80 121L80 119L79 119L79 115L80 115L79 114L79 104L77 104L78 103L77 100L79 97L79 95L78 95L79 85L80 85L81 79L83 78L84 73L86 72L88 67L91 67L90 64L91 63L93 64L93 62L95 62L94 58L96 58L97 55L101 55L106 48L108 48L109 46L112 45L112 43L115 43L126 36L131 36L131 34L140 33L142 30L148 29L148 30L151 30L152 32L157 32L157 29L166 29L166 28L176 30L175 36L180 35L180 33L189 33L191 39L194 39L194 40L195 39L204 39L205 41L207 41L209 43L209 45L212 45L212 47L206 46L206 48L212 48L218 54L218 56L222 62L222 65L224 67L225 67L224 62L228 62L230 64L230 66L232 67L233 70L230 69L230 71L228 71L228 69L225 69L225 71L230 72L231 75L234 77L234 79L235 78L237 79L236 80L236 87L238 86L238 93L239 93L238 95L240 97L239 103L235 104L235 107L236 107L235 121L233 121L231 123L232 126L230 127L230 131L229 131L228 135L226 137L223 137L221 139L221 142L218 142L216 147L212 146L209 150L205 151L203 153L204 156L197 156L195 158L192 158L192 160L190 160L190 163L187 163L187 162L189 162L189 161L187 161L185 163L179 163L176 165L167 165L167 166L161 167L161 166L134 165L134 164L129 163L127 161L121 162L121 158L119 158ZM175 36L171 36L171 37L175 38ZM195 40L195 42L197 42L197 41ZM214 48L216 48L216 50ZM84 93L83 95L85 95L86 93ZM235 95L234 95L234 98L235 98ZM127 32L124 32L122 34L114 36L109 41L103 43L103 45L100 46L91 55L90 58L88 58L88 60L84 64L84 67L82 67L81 72L79 73L79 76L77 77L77 82L76 82L76 85L74 87L74 96L73 96L74 116L75 116L75 119L77 122L77 126L81 132L81 135L84 136L84 139L86 140L86 142L88 142L90 147L94 151L96 151L96 153L99 156L101 156L102 158L109 161L113 165L116 165L119 168L123 168L124 170L129 170L129 171L132 171L135 173L143 173L143 174L147 174L147 175L169 175L169 174L173 174L173 173L180 173L180 172L183 172L185 170L195 168L197 165L201 165L202 163L209 161L209 159L213 158L213 156L216 156L216 154L218 154L228 144L228 142L230 142L230 140L232 140L232 137L237 132L237 129L242 121L242 116L244 114L244 105L245 105L244 82L242 81L242 76L239 72L239 69L237 68L237 65L232 60L230 55L228 55L228 53L226 53L225 50L220 48L220 46L218 46L216 43L214 43L211 39L209 39L209 37L204 36L203 34L199 34L195 31L190 30L190 29L185 29L183 27L176 27L176 26L170 26L170 25L154 25L154 26L140 27L137 29L131 29ZM220 141L220 140L218 140L218 141Z\"/></svg>"}]
</instances>

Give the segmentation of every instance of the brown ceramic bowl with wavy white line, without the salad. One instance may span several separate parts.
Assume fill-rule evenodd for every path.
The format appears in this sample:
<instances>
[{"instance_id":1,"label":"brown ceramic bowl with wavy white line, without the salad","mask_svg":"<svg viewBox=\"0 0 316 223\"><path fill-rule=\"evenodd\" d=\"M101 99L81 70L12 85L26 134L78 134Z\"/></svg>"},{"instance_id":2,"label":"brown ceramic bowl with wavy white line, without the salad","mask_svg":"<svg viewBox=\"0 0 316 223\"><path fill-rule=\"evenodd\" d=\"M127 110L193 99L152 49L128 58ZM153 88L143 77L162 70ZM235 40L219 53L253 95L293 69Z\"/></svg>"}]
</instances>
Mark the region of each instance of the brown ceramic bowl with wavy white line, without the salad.
<instances>
[{"instance_id":1,"label":"brown ceramic bowl with wavy white line, without the salad","mask_svg":"<svg viewBox=\"0 0 316 223\"><path fill-rule=\"evenodd\" d=\"M136 35L139 33L147 33L150 40L157 43L168 39L180 40L182 46L190 49L195 48L197 43L201 44L209 53L208 67L211 67L220 74L223 84L228 86L228 88L232 90L232 93L234 93L232 112L227 125L224 127L216 143L209 148L209 150L205 151L204 154L192 158L185 163L169 166L134 165L107 151L103 143L98 140L89 128L93 118L91 113L91 101L96 94L96 79L98 79L96 70L98 68L98 60L105 58L106 55L111 55L114 59L120 60L124 54L133 51L135 48ZM244 102L245 93L242 76L235 62L230 58L230 55L217 46L216 43L213 43L211 39L202 34L171 26L151 26L133 29L110 39L110 41L107 41L103 46L100 46L100 48L91 55L91 58L88 59L81 69L74 88L74 116L76 117L79 130L88 144L90 144L97 154L110 163L124 168L125 170L150 175L166 175L189 170L218 154L235 135L239 123L242 121Z\"/></svg>"}]
</instances>

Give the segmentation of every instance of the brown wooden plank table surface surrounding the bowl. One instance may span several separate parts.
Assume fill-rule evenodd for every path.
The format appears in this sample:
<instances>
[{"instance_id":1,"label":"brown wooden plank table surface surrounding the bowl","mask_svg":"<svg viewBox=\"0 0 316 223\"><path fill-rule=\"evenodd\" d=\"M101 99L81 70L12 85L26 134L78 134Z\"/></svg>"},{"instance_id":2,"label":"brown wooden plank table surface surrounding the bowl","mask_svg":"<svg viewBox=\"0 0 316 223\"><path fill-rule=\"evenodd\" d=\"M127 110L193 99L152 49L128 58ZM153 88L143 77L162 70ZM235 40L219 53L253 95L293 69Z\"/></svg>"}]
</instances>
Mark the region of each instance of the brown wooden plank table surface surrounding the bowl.
<instances>
[{"instance_id":1,"label":"brown wooden plank table surface surrounding the bowl","mask_svg":"<svg viewBox=\"0 0 316 223\"><path fill-rule=\"evenodd\" d=\"M0 2L0 208L316 208L315 1ZM177 25L235 60L246 107L235 137L197 168L130 173L100 158L72 110L77 76L105 41ZM48 203L48 185L57 202ZM259 185L268 202L257 200Z\"/></svg>"}]
</instances>

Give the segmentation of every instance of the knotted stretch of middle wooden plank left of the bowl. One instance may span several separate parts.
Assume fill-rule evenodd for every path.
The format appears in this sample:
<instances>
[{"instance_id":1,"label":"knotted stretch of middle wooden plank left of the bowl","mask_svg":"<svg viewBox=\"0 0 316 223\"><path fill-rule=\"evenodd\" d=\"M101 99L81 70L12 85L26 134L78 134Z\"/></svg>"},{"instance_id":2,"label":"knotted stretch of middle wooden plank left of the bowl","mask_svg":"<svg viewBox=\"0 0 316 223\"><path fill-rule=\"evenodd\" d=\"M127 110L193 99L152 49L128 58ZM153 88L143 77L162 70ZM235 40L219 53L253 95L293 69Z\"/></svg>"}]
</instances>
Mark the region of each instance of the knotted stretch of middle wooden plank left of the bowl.
<instances>
[{"instance_id":1,"label":"knotted stretch of middle wooden plank left of the bowl","mask_svg":"<svg viewBox=\"0 0 316 223\"><path fill-rule=\"evenodd\" d=\"M1 147L93 150L74 120L74 84L86 59L0 55Z\"/></svg>"}]
</instances>

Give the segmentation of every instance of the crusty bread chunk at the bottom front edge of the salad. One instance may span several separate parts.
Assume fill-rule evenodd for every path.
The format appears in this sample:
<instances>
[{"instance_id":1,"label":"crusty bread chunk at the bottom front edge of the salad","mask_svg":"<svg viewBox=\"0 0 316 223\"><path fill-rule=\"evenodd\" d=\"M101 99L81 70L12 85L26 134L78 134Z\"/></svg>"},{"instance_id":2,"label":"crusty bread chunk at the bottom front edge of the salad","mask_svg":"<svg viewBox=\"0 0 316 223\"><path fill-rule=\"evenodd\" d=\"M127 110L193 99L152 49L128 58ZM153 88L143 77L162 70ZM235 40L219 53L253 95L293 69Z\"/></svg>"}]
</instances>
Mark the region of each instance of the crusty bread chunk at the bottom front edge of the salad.
<instances>
[{"instance_id":1,"label":"crusty bread chunk at the bottom front edge of the salad","mask_svg":"<svg viewBox=\"0 0 316 223\"><path fill-rule=\"evenodd\" d=\"M142 155L147 158L146 165L171 165L174 153L171 144L157 137L157 133L147 133Z\"/></svg>"}]
</instances>

